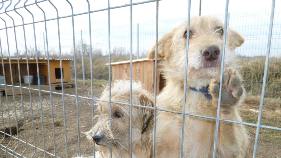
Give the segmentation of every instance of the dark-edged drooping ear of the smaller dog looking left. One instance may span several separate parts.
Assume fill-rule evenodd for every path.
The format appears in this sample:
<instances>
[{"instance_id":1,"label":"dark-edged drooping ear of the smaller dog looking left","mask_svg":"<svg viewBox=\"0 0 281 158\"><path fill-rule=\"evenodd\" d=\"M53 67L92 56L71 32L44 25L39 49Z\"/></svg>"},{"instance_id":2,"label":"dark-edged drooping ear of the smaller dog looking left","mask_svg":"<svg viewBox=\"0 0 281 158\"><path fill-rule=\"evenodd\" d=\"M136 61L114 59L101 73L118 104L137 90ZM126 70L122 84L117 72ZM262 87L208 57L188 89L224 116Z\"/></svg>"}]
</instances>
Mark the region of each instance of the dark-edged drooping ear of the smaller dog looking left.
<instances>
[{"instance_id":1,"label":"dark-edged drooping ear of the smaller dog looking left","mask_svg":"<svg viewBox=\"0 0 281 158\"><path fill-rule=\"evenodd\" d=\"M154 107L154 100L146 95L141 94L140 96L140 105L146 106L146 107ZM143 108L142 110L142 116L143 116L143 125L142 125L142 131L141 134L143 134L149 124L150 118L153 114L152 109Z\"/></svg>"}]
</instances>

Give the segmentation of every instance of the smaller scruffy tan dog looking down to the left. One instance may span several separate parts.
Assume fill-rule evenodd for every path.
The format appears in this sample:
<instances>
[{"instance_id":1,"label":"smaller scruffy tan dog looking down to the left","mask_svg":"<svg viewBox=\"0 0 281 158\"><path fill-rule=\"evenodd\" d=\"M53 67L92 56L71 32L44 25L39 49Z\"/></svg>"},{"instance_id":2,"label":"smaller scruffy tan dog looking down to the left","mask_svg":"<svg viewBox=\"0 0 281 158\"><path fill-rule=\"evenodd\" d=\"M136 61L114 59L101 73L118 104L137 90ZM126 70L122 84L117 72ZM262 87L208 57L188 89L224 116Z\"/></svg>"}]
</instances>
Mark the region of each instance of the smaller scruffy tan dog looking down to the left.
<instances>
[{"instance_id":1,"label":"smaller scruffy tan dog looking down to the left","mask_svg":"<svg viewBox=\"0 0 281 158\"><path fill-rule=\"evenodd\" d=\"M142 88L142 84L133 81L132 85L132 104L154 107L153 97ZM109 100L108 86L102 92L100 100ZM111 100L130 104L129 80L114 81ZM99 101L97 109L99 115L95 117L95 126L86 132L89 141L96 144L96 157L110 157L110 142L114 158L130 157L130 106L111 103L111 128L109 103ZM132 125L133 157L150 157L149 131L153 128L153 110L132 107Z\"/></svg>"}]
</instances>

